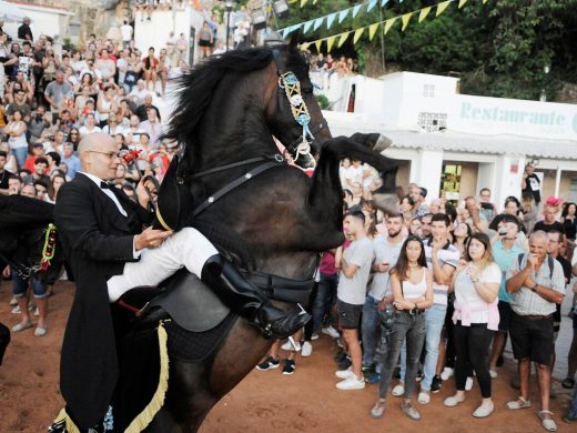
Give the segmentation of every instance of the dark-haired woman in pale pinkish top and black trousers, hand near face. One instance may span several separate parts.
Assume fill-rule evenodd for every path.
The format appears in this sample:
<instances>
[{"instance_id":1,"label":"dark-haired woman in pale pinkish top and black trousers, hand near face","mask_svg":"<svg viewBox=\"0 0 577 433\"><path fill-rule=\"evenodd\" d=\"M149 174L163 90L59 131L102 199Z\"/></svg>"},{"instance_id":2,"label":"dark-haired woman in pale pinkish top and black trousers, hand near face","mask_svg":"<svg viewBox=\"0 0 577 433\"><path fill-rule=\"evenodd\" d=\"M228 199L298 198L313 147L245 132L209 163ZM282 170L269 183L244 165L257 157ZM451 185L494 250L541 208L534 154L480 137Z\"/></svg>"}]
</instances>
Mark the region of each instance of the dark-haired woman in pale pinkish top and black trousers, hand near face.
<instances>
[{"instance_id":1,"label":"dark-haired woman in pale pinkish top and black trousers, hand near face","mask_svg":"<svg viewBox=\"0 0 577 433\"><path fill-rule=\"evenodd\" d=\"M467 371L473 367L483 396L483 402L473 412L473 416L486 417L495 409L490 397L487 353L499 324L497 294L502 272L493 260L490 241L485 233L475 233L469 238L465 259L468 262L462 261L453 275L457 392L445 399L444 404L452 407L465 400Z\"/></svg>"}]
</instances>

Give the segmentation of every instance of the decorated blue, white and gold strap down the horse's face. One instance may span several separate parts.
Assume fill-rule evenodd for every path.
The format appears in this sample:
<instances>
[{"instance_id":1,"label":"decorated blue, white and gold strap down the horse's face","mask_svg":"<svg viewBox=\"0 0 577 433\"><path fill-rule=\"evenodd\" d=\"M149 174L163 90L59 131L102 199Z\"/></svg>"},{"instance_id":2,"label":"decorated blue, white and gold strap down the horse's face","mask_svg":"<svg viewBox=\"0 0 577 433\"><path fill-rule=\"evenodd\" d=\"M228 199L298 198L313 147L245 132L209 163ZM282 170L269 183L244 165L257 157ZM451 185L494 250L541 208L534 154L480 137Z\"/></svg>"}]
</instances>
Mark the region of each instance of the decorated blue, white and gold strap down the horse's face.
<instances>
[{"instance_id":1,"label":"decorated blue, white and gold strap down the horse's face","mask_svg":"<svg viewBox=\"0 0 577 433\"><path fill-rule=\"evenodd\" d=\"M308 128L308 124L311 123L311 114L308 113L308 108L301 94L301 82L293 72L288 71L279 77L279 87L284 89L284 92L286 93L294 120L303 127L303 141L296 147L294 160L296 161L298 157L308 157L314 167L315 160L311 155L311 142L314 140L314 135ZM311 141L307 139L311 139Z\"/></svg>"}]
</instances>

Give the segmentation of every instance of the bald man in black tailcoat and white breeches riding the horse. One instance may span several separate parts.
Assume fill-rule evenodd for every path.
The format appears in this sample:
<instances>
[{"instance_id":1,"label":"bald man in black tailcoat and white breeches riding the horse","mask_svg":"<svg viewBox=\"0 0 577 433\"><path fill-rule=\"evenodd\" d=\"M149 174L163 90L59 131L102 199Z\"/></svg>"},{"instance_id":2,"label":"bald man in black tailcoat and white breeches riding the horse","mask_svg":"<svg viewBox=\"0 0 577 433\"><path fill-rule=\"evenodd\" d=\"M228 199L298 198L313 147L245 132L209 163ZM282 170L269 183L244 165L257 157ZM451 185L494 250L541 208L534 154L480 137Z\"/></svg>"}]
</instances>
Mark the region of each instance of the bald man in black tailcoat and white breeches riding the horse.
<instances>
[{"instance_id":1,"label":"bald man in black tailcoat and white breeches riding the horse","mask_svg":"<svg viewBox=\"0 0 577 433\"><path fill-rule=\"evenodd\" d=\"M67 414L81 431L100 431L111 402L118 360L109 303L131 288L156 285L185 266L267 336L291 335L307 322L307 314L286 315L273 306L199 231L142 231L153 219L142 182L136 188L140 204L105 182L114 179L120 163L111 137L87 135L78 153L82 171L60 189L54 219L77 282L60 387Z\"/></svg>"}]
</instances>

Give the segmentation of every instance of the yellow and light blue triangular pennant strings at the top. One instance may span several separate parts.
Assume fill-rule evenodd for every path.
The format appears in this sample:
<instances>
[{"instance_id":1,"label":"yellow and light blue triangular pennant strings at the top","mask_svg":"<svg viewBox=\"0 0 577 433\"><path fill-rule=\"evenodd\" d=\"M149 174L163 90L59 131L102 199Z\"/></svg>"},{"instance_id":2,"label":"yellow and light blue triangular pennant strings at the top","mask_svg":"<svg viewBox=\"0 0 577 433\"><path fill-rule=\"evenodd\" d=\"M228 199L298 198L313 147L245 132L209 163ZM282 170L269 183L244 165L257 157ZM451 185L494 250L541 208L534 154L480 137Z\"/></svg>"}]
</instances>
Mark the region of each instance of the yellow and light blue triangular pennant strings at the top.
<instances>
[{"instance_id":1,"label":"yellow and light blue triangular pennant strings at the top","mask_svg":"<svg viewBox=\"0 0 577 433\"><path fill-rule=\"evenodd\" d=\"M314 1L314 0L312 0L312 1ZM371 0L371 1L373 1L373 0ZM388 0L382 0L382 1L384 1L386 3ZM306 49L308 49L308 47L314 44L316 47L316 50L321 51L323 43L326 43L326 52L331 52L331 50L333 49L335 43L336 43L336 47L340 48L348 40L348 38L351 36L353 37L353 44L356 44L356 42L358 42L358 40L361 39L361 37L363 37L363 34L365 34L365 32L367 32L367 34L368 34L368 40L372 41L379 28L382 28L383 33L386 34L386 33L388 33L388 31L391 31L391 29L397 22L401 22L401 31L405 31L413 17L417 17L417 22L421 23L429 16L429 13L433 10L435 10L435 18L436 18L436 17L441 16L443 12L445 12L445 10L451 6L451 3L457 3L457 9L460 9L465 6L465 3L467 3L467 1L468 0L445 0L445 1L442 1L434 6L428 6L426 8L417 9L417 10L414 10L414 11L411 11L411 12L407 12L407 13L404 13L401 16L392 17L386 20L382 20L382 21L374 22L372 24L360 27L357 29L344 31L342 33L325 37L325 38L322 38L322 39L318 39L315 41L304 42L301 44L301 49L306 50ZM487 1L488 0L482 0L483 4L485 4ZM304 2L306 3L306 0ZM363 7L365 4L367 4L367 3L357 4L357 6ZM356 7L348 8L346 10L354 9L354 8L356 8ZM335 12L335 13L340 14L343 11ZM320 19L325 19L325 17L321 17ZM315 21L315 20L312 20L312 21ZM281 34L283 34L283 37L286 37L292 31L300 29L301 27L303 27L303 32L306 33L306 31L308 31L311 27L308 26L308 28L305 30L304 24L306 24L306 23L295 24L296 28L293 30L290 30L290 29L292 29L292 27L295 27L295 26L291 26L288 28L281 29ZM316 28L314 28L314 22L313 22L314 30L318 29L321 27L321 24L318 24ZM286 32L286 30L290 30L290 31ZM283 31L285 31L285 32L283 32Z\"/></svg>"}]
</instances>

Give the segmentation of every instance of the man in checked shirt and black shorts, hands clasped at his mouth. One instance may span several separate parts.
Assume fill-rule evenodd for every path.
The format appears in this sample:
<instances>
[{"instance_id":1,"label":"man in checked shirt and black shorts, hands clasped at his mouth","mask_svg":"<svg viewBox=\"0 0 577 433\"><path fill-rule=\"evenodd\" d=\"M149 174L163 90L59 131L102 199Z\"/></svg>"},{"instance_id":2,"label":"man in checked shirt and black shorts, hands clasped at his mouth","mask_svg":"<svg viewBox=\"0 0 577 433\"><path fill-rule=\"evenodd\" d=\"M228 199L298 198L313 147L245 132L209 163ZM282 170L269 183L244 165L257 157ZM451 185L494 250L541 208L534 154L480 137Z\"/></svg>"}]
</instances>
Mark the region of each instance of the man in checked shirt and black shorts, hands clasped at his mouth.
<instances>
[{"instance_id":1,"label":"man in checked shirt and black shorts, hands clasped at his mouth","mask_svg":"<svg viewBox=\"0 0 577 433\"><path fill-rule=\"evenodd\" d=\"M507 272L507 291L513 294L510 339L518 361L520 395L507 403L513 410L530 406L530 362L537 364L540 395L538 416L545 430L556 431L549 411L550 362L554 344L553 313L563 302L565 278L560 263L547 254L547 234L535 231L529 238L529 253L520 263L513 261Z\"/></svg>"}]
</instances>

